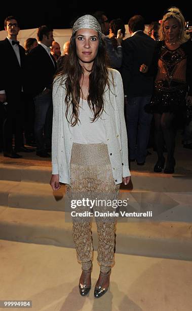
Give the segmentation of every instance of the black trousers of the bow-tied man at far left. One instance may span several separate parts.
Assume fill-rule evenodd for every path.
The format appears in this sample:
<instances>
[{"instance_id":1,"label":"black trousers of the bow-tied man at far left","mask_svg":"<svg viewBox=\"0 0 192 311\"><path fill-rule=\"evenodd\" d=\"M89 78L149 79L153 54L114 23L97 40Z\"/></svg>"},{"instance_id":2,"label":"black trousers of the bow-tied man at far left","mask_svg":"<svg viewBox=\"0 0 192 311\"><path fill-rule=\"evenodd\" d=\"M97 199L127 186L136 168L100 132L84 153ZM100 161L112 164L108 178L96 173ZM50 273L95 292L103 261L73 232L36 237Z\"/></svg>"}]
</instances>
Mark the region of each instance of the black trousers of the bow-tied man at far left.
<instances>
[{"instance_id":1,"label":"black trousers of the bow-tied man at far left","mask_svg":"<svg viewBox=\"0 0 192 311\"><path fill-rule=\"evenodd\" d=\"M8 104L5 106L5 120L3 125L3 149L11 152L13 134L15 134L15 149L24 145L23 123L24 123L24 99L23 94L14 98L8 96Z\"/></svg>"}]
</instances>

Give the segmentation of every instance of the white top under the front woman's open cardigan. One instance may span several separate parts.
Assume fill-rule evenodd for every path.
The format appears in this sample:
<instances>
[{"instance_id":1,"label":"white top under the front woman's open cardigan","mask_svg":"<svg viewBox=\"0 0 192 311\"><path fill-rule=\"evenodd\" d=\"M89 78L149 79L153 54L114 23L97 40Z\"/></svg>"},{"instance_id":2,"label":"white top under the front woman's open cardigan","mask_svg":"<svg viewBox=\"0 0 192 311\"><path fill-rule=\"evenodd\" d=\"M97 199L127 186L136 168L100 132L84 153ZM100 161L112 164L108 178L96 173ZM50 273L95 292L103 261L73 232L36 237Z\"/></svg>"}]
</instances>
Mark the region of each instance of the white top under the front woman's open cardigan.
<instances>
[{"instance_id":1,"label":"white top under the front woman's open cardigan","mask_svg":"<svg viewBox=\"0 0 192 311\"><path fill-rule=\"evenodd\" d=\"M93 112L86 100L80 99L79 120L74 127L69 127L72 141L78 144L106 143L102 115L94 122Z\"/></svg>"}]
</instances>

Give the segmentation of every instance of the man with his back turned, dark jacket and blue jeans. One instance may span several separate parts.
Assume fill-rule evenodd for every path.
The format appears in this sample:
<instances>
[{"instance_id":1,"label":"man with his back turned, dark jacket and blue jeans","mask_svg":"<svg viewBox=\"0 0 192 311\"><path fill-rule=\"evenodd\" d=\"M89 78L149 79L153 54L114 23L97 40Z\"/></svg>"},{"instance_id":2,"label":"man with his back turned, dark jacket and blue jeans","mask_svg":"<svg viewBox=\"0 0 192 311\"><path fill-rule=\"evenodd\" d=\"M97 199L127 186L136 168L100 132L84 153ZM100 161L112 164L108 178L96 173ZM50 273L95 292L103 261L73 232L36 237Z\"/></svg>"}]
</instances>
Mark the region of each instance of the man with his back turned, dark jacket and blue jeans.
<instances>
[{"instance_id":1,"label":"man with his back turned, dark jacket and blue jeans","mask_svg":"<svg viewBox=\"0 0 192 311\"><path fill-rule=\"evenodd\" d=\"M130 161L144 165L147 155L150 122L152 115L144 111L149 103L153 78L142 75L142 64L150 65L156 42L144 34L144 19L133 16L129 22L131 37L123 41L122 78L125 94L125 111L128 131Z\"/></svg>"}]
</instances>

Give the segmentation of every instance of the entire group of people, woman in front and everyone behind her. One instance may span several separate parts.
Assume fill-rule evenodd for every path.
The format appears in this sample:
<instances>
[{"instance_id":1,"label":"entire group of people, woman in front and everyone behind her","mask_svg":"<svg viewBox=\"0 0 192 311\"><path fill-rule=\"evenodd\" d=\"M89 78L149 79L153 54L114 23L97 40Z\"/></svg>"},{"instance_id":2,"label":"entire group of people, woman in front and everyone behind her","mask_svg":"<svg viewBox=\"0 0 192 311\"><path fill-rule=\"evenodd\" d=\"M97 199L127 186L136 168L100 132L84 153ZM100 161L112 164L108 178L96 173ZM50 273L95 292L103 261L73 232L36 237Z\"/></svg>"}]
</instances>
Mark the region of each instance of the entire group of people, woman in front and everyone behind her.
<instances>
[{"instance_id":1,"label":"entire group of people, woman in front and everyone behind her","mask_svg":"<svg viewBox=\"0 0 192 311\"><path fill-rule=\"evenodd\" d=\"M50 184L57 191L65 183L70 200L117 199L120 184L130 181L129 162L145 164L152 118L158 154L154 171L165 166L165 173L174 173L177 126L189 110L186 103L192 103L190 35L175 7L152 22L148 34L140 15L131 17L128 27L130 37L124 40L120 18L109 23L100 11L82 16L61 56L52 28L40 26L37 40L27 39L23 48L17 19L5 19L8 36L0 42L3 154L20 158L19 152L31 151L24 131L39 157L52 152ZM185 145L191 147L189 139ZM87 212L83 218L76 215L72 229L82 264L79 290L85 296L91 289L91 217L89 208L75 211ZM99 211L112 213L113 208ZM99 298L109 287L116 218L102 215L96 224L100 274L94 296Z\"/></svg>"}]
</instances>

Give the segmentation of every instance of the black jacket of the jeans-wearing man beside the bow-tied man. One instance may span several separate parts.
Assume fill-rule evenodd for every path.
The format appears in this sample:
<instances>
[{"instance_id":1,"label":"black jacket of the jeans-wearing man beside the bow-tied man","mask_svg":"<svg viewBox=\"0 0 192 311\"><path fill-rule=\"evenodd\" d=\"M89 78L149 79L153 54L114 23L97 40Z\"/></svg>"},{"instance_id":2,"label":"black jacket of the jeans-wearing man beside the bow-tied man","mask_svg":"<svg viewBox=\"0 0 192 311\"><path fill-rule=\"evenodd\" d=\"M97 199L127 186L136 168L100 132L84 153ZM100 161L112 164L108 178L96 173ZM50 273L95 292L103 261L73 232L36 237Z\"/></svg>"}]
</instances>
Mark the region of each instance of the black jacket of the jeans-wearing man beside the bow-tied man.
<instances>
[{"instance_id":1,"label":"black jacket of the jeans-wearing man beside the bow-tied man","mask_svg":"<svg viewBox=\"0 0 192 311\"><path fill-rule=\"evenodd\" d=\"M26 88L27 93L33 97L41 94L45 87L52 89L53 76L57 69L57 63L52 55L51 58L40 44L32 49L27 56Z\"/></svg>"}]
</instances>

